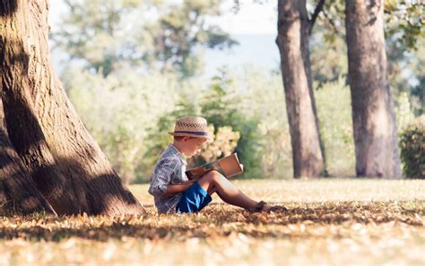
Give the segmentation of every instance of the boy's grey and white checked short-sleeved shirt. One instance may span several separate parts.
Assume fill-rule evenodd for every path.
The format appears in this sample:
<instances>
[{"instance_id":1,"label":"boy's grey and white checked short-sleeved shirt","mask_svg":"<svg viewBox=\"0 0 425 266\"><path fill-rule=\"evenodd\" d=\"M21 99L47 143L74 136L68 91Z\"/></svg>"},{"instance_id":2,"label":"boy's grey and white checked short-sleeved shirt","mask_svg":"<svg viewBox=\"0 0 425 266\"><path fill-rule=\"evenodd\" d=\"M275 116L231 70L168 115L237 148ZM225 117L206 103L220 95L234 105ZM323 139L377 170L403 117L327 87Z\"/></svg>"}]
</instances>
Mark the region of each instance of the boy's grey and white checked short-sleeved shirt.
<instances>
[{"instance_id":1,"label":"boy's grey and white checked short-sleeved shirt","mask_svg":"<svg viewBox=\"0 0 425 266\"><path fill-rule=\"evenodd\" d=\"M182 193L165 196L169 184L179 184L187 181L186 158L176 147L169 144L160 155L153 174L149 193L153 195L155 206L160 213L174 213Z\"/></svg>"}]
</instances>

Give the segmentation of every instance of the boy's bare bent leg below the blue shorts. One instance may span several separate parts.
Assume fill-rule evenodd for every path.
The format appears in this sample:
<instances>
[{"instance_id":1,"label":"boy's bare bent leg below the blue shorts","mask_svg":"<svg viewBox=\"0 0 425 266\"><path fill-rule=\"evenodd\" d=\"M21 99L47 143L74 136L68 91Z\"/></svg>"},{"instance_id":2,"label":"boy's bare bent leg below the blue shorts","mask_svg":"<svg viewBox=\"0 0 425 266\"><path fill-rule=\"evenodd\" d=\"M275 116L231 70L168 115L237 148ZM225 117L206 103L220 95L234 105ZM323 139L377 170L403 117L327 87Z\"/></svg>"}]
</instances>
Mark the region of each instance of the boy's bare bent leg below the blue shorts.
<instances>
[{"instance_id":1,"label":"boy's bare bent leg below the blue shorts","mask_svg":"<svg viewBox=\"0 0 425 266\"><path fill-rule=\"evenodd\" d=\"M211 171L203 176L198 180L198 184L210 195L217 193L221 200L229 204L248 210L254 209L258 204L258 202L247 197L246 194L242 193L234 184L231 184L226 177L217 171Z\"/></svg>"}]
</instances>

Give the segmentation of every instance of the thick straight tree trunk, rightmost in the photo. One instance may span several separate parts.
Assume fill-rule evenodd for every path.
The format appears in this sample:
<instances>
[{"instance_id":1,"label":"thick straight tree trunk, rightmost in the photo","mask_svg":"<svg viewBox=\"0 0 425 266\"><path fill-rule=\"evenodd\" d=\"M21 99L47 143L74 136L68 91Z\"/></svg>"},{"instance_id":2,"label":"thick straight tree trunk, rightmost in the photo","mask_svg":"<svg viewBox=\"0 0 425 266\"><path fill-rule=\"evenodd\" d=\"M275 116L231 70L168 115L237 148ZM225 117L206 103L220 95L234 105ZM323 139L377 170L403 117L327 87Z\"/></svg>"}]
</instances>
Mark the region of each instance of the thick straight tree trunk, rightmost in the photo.
<instances>
[{"instance_id":1,"label":"thick straight tree trunk, rightmost in the photo","mask_svg":"<svg viewBox=\"0 0 425 266\"><path fill-rule=\"evenodd\" d=\"M357 176L402 176L386 79L384 0L345 1Z\"/></svg>"}]
</instances>

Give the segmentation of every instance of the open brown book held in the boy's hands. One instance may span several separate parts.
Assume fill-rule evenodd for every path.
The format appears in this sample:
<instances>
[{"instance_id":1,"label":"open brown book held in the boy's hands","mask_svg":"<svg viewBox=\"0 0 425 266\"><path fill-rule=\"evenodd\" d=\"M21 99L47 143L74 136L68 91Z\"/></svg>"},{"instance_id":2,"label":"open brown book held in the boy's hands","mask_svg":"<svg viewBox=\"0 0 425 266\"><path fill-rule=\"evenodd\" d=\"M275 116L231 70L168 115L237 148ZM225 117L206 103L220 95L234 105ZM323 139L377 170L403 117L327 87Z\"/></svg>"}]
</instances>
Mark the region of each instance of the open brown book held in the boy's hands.
<instances>
[{"instance_id":1,"label":"open brown book held in the boy's hands","mask_svg":"<svg viewBox=\"0 0 425 266\"><path fill-rule=\"evenodd\" d=\"M221 175L230 177L236 176L244 171L244 166L239 163L238 155L236 153L230 154L227 157L217 159L211 163L204 164L200 167L195 167L186 171L186 176L189 179L204 176L210 171L217 171Z\"/></svg>"}]
</instances>

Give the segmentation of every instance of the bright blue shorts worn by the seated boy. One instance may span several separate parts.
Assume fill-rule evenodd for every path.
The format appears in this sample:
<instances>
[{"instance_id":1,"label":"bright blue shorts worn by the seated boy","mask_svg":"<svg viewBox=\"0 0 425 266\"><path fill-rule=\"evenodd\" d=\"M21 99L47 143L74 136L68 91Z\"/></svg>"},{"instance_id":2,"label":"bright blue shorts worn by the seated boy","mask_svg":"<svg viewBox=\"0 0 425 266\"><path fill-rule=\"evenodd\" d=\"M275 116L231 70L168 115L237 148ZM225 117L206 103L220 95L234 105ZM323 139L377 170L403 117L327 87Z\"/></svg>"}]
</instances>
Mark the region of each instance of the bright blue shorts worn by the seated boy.
<instances>
[{"instance_id":1,"label":"bright blue shorts worn by the seated boy","mask_svg":"<svg viewBox=\"0 0 425 266\"><path fill-rule=\"evenodd\" d=\"M199 212L211 201L212 197L206 193L201 185L195 182L181 196L180 202L178 202L176 207L176 211L178 213Z\"/></svg>"}]
</instances>

